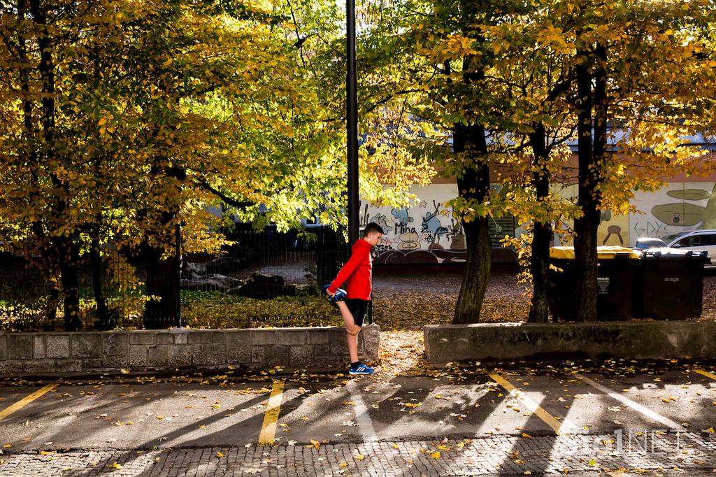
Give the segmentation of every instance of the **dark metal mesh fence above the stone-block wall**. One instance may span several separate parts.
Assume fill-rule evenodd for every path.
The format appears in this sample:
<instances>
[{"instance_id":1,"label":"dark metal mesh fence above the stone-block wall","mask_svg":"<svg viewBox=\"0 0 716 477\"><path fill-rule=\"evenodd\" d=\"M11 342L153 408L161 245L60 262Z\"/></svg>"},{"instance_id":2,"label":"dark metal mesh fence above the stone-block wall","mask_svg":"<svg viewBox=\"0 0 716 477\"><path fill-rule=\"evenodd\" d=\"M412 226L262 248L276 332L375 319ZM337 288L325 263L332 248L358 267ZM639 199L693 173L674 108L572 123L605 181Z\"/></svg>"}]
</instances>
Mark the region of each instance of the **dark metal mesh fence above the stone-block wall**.
<instances>
[{"instance_id":1,"label":"dark metal mesh fence above the stone-block wall","mask_svg":"<svg viewBox=\"0 0 716 477\"><path fill-rule=\"evenodd\" d=\"M291 312L285 306L271 312L268 304L261 304L310 297L337 274L346 252L341 235L326 227L308 232L283 233L273 226L257 232L238 224L225 232L233 244L221 255L183 254L173 267L158 270L147 256L125 253L120 260L102 260L99 281L89 258L80 256L80 329L163 328L198 321L210 327L246 327L252 321L299 318L296 313L311 319L305 309ZM147 289L157 289L157 283L164 284L165 294L154 305L175 297L178 306L160 306L168 311L155 314L147 326L147 309L156 298ZM0 330L62 330L63 303L62 281L42 260L0 254Z\"/></svg>"}]
</instances>

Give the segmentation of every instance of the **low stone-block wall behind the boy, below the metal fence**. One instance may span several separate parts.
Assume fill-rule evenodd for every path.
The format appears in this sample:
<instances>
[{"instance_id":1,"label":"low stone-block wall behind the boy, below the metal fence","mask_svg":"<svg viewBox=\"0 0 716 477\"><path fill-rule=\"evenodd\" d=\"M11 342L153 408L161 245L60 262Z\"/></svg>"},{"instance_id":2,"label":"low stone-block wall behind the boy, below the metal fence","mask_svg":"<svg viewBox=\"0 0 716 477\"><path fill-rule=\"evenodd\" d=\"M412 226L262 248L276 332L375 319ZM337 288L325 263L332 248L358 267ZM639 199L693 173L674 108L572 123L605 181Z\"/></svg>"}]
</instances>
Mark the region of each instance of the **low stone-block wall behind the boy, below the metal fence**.
<instances>
[{"instance_id":1,"label":"low stone-block wall behind the boy, below the metal fence","mask_svg":"<svg viewBox=\"0 0 716 477\"><path fill-rule=\"evenodd\" d=\"M377 361L378 344L378 327L363 327L358 335L361 359ZM228 365L329 370L348 362L343 327L0 332L0 375Z\"/></svg>"}]
</instances>

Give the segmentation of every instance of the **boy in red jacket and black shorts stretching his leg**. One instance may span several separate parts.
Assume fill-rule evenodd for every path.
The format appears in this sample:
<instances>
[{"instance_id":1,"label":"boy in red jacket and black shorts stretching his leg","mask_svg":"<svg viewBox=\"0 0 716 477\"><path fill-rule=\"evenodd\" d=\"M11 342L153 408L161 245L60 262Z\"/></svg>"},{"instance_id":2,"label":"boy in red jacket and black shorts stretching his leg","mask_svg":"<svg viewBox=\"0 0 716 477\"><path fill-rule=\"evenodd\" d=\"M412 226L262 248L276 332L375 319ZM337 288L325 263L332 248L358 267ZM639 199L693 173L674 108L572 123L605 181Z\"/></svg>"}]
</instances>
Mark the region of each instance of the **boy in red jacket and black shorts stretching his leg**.
<instances>
[{"instance_id":1,"label":"boy in red jacket and black shorts stretching his leg","mask_svg":"<svg viewBox=\"0 0 716 477\"><path fill-rule=\"evenodd\" d=\"M349 373L369 375L373 368L358 360L358 333L368 310L373 284L373 258L370 249L378 244L383 229L377 223L369 223L363 231L363 238L353 244L351 258L338 272L336 279L326 286L330 300L337 304L346 326L348 353L351 358ZM346 291L339 286L347 282Z\"/></svg>"}]
</instances>

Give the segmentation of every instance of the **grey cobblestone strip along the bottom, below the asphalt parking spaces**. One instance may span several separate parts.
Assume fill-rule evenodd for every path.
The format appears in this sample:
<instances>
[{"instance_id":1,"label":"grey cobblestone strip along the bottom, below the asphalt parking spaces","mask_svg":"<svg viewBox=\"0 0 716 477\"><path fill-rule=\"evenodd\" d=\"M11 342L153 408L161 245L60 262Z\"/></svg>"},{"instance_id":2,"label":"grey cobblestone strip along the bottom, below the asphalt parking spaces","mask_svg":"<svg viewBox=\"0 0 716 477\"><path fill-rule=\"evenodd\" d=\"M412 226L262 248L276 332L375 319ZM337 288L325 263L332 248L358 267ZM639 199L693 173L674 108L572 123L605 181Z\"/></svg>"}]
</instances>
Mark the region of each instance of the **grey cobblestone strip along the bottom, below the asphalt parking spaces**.
<instances>
[{"instance_id":1,"label":"grey cobblestone strip along the bottom, below the asphalt parking spaces","mask_svg":"<svg viewBox=\"0 0 716 477\"><path fill-rule=\"evenodd\" d=\"M473 440L251 448L70 450L6 458L0 476L697 475L716 468L716 440L698 433L495 436ZM652 443L652 438L654 439ZM652 450L653 445L653 450Z\"/></svg>"}]
</instances>

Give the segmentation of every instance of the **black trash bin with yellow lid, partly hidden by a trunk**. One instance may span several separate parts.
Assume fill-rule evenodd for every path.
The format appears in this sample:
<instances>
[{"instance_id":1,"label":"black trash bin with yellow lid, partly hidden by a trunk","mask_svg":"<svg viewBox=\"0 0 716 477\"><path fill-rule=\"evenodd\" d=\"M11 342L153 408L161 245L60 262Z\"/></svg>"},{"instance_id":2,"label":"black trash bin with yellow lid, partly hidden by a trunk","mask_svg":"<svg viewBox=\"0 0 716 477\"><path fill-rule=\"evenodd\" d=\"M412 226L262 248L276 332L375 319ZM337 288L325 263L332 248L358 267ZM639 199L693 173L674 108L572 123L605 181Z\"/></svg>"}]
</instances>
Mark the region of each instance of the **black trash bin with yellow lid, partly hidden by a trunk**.
<instances>
[{"instance_id":1,"label":"black trash bin with yellow lid, partly hidden by a trunk","mask_svg":"<svg viewBox=\"0 0 716 477\"><path fill-rule=\"evenodd\" d=\"M554 319L576 321L576 274L573 247L552 247L549 309ZM639 254L625 247L597 247L596 315L601 320L632 316L635 277L639 273Z\"/></svg>"}]
</instances>

